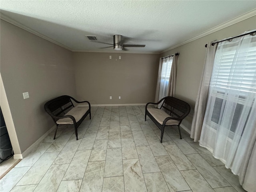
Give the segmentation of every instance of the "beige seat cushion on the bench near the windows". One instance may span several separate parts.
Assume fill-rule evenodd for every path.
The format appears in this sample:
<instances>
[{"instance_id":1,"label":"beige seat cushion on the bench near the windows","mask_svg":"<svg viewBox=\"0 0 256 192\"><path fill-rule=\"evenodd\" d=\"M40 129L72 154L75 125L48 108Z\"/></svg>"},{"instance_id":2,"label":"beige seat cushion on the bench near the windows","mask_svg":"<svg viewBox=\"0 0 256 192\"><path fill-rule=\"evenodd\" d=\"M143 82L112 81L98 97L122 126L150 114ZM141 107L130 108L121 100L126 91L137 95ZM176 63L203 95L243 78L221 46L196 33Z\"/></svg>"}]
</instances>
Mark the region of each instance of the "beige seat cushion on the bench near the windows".
<instances>
[{"instance_id":1,"label":"beige seat cushion on the bench near the windows","mask_svg":"<svg viewBox=\"0 0 256 192\"><path fill-rule=\"evenodd\" d=\"M148 108L148 112L160 123L163 124L164 120L167 117L170 117L166 112L164 112L162 109L158 108ZM170 119L166 122L165 125L178 125L180 122L177 120Z\"/></svg>"}]
</instances>

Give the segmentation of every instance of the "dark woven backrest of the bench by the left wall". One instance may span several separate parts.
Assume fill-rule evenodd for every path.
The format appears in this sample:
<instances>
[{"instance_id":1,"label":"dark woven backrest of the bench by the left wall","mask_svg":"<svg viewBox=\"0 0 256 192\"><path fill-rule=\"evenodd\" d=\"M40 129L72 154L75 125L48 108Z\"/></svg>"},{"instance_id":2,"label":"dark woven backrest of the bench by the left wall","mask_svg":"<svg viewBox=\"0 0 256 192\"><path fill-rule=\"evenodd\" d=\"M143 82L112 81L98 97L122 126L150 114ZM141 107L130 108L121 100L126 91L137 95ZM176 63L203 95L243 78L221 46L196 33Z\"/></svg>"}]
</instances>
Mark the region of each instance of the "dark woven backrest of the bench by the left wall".
<instances>
[{"instance_id":1,"label":"dark woven backrest of the bench by the left wall","mask_svg":"<svg viewBox=\"0 0 256 192\"><path fill-rule=\"evenodd\" d=\"M44 108L48 114L51 116L64 116L74 107L70 96L63 95L57 98L54 98L44 105Z\"/></svg>"}]
</instances>

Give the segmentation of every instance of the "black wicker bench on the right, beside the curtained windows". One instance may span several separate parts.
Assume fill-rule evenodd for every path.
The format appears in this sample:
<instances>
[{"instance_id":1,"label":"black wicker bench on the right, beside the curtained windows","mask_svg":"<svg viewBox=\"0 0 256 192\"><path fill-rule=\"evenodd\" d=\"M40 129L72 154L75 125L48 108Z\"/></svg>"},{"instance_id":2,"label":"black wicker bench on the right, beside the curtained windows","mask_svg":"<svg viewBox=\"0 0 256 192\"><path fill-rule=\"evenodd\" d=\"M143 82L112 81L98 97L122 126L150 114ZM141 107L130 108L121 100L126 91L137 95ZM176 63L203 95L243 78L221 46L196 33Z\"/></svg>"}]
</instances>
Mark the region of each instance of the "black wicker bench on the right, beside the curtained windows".
<instances>
[{"instance_id":1,"label":"black wicker bench on the right, beside the curtained windows","mask_svg":"<svg viewBox=\"0 0 256 192\"><path fill-rule=\"evenodd\" d=\"M154 108L154 107L148 107L149 104L160 104L162 103L162 106L160 109ZM164 135L164 128L165 126L173 126L177 125L178 130L180 133L180 124L182 120L189 114L190 112L190 106L188 103L179 100L174 97L164 97L157 103L147 103L145 107L145 121L146 116L148 115L150 119L158 126L158 128L161 130L161 140L162 143L163 135ZM180 139L181 133L180 133Z\"/></svg>"}]
</instances>

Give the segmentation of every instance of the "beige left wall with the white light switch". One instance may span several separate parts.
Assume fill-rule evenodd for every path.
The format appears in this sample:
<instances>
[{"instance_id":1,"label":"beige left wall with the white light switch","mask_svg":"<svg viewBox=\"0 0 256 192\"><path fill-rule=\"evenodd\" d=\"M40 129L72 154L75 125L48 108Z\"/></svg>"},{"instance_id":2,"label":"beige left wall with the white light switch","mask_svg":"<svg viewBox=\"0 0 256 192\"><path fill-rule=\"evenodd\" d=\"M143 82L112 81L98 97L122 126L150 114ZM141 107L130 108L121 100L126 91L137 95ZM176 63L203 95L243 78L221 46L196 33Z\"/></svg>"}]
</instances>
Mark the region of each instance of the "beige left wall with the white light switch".
<instances>
[{"instance_id":1,"label":"beige left wall with the white light switch","mask_svg":"<svg viewBox=\"0 0 256 192\"><path fill-rule=\"evenodd\" d=\"M44 103L63 94L76 96L72 52L3 20L0 35L0 72L24 152L54 125ZM30 98L24 100L23 92Z\"/></svg>"}]
</instances>

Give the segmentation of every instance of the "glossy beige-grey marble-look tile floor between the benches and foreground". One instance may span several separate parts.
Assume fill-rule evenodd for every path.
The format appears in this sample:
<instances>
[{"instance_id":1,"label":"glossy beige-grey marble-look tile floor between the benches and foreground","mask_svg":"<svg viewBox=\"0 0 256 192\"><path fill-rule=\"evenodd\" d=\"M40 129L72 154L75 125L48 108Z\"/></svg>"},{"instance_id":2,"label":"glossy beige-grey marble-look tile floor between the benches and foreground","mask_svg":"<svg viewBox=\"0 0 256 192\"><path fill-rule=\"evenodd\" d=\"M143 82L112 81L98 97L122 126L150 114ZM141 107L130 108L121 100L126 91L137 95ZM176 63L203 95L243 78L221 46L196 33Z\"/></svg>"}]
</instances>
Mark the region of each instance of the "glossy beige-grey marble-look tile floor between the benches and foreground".
<instances>
[{"instance_id":1,"label":"glossy beige-grey marble-look tile floor between the benches and foreground","mask_svg":"<svg viewBox=\"0 0 256 192\"><path fill-rule=\"evenodd\" d=\"M59 126L0 180L1 192L244 192L238 176L178 128L160 130L145 106L92 107Z\"/></svg>"}]
</instances>

